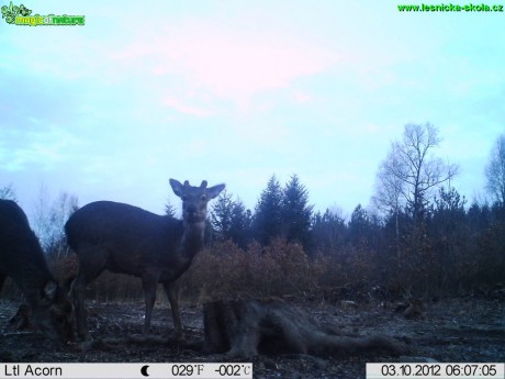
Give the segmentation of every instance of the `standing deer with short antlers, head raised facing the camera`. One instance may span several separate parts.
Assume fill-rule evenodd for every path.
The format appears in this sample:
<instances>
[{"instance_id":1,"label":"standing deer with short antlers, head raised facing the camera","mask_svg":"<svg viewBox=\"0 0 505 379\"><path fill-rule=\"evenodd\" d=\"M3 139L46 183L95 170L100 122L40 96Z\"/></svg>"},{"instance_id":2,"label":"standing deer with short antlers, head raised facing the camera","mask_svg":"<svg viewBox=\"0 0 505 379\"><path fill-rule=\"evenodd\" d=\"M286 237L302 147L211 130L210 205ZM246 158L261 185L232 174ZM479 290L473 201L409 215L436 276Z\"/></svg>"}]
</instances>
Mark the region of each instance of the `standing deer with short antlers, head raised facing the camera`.
<instances>
[{"instance_id":1,"label":"standing deer with short antlers, head raised facing the camera","mask_svg":"<svg viewBox=\"0 0 505 379\"><path fill-rule=\"evenodd\" d=\"M182 220L157 215L141 208L98 201L76 211L65 225L68 244L79 258L79 272L72 283L77 333L90 341L85 312L86 286L103 270L130 274L142 279L146 303L143 333L150 328L158 282L170 302L176 335L181 336L176 280L190 267L203 247L207 202L224 185L206 188L206 181L192 187L170 179L182 200Z\"/></svg>"}]
</instances>

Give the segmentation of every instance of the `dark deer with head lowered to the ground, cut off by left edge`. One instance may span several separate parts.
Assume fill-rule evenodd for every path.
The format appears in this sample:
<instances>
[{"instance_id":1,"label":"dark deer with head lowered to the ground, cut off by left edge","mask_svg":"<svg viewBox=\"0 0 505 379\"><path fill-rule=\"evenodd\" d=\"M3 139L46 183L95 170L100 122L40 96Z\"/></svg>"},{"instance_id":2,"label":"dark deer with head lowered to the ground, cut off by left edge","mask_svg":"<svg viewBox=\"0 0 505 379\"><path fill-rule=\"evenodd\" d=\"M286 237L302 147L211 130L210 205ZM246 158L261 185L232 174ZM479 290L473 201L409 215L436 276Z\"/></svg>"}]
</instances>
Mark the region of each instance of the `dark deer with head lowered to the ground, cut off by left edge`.
<instances>
[{"instance_id":1,"label":"dark deer with head lowered to the ground, cut off by left edge","mask_svg":"<svg viewBox=\"0 0 505 379\"><path fill-rule=\"evenodd\" d=\"M14 201L0 200L0 290L7 277L23 292L35 325L55 342L69 342L71 302L50 275L23 210Z\"/></svg>"}]
</instances>

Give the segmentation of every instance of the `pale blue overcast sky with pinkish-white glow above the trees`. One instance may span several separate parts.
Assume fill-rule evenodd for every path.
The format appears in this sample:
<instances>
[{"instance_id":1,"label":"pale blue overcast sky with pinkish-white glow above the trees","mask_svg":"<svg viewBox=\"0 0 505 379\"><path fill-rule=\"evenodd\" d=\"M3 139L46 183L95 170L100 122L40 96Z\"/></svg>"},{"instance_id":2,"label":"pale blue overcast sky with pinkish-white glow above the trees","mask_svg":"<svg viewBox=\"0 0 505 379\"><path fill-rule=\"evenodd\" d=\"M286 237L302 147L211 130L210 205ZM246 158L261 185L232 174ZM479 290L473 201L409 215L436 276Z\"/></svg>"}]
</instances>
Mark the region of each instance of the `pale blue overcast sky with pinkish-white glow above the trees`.
<instances>
[{"instance_id":1,"label":"pale blue overcast sky with pinkish-white glow above the trees","mask_svg":"<svg viewBox=\"0 0 505 379\"><path fill-rule=\"evenodd\" d=\"M500 2L500 1L498 1ZM349 215L406 123L430 122L452 182L484 198L505 133L505 13L399 1L26 1L85 26L0 20L0 187L161 213L169 178L225 182L254 209L296 174ZM414 2L415 3L415 2ZM0 5L9 4L0 0ZM14 3L18 4L18 3ZM461 3L463 4L463 3Z\"/></svg>"}]
</instances>

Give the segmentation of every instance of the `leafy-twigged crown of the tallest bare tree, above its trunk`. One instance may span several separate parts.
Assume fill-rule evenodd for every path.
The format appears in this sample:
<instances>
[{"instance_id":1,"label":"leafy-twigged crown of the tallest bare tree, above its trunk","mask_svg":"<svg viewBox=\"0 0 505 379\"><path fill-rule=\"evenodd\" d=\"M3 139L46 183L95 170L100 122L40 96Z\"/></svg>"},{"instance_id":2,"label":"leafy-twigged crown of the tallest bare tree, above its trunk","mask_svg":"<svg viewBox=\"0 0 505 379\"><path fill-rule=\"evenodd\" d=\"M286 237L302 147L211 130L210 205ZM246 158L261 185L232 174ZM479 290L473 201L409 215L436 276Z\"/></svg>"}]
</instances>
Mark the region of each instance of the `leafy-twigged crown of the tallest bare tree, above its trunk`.
<instances>
[{"instance_id":1,"label":"leafy-twigged crown of the tallest bare tree, above its trunk","mask_svg":"<svg viewBox=\"0 0 505 379\"><path fill-rule=\"evenodd\" d=\"M414 221L418 220L433 190L458 174L457 165L433 154L439 144L438 130L431 124L406 124L403 138L392 143L379 168L375 204L390 211L405 205Z\"/></svg>"}]
</instances>

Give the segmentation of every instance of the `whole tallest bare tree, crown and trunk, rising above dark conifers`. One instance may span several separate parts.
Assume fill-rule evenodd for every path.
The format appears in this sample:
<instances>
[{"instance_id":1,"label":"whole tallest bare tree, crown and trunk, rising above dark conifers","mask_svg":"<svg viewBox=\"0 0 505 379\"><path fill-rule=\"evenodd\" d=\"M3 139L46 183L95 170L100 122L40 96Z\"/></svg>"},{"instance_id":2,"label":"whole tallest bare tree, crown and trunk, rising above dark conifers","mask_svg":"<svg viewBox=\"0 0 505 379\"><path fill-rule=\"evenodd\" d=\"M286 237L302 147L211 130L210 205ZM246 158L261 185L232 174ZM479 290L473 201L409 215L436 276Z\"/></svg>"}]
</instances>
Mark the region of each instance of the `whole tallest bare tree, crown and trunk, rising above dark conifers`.
<instances>
[{"instance_id":1,"label":"whole tallest bare tree, crown and trunk, rising above dark conifers","mask_svg":"<svg viewBox=\"0 0 505 379\"><path fill-rule=\"evenodd\" d=\"M426 268L424 265L428 265L426 257L429 254L424 249L427 246L425 224L422 221L435 190L458 174L458 166L446 164L435 156L434 151L439 144L435 126L429 123L406 124L402 138L391 144L388 157L377 174L372 201L382 213L394 218L396 271L402 272L402 280L406 282L412 275L422 275ZM401 220L412 220L413 223L400 225ZM404 230L407 226L407 235L402 235L401 226ZM405 244L403 237L406 236Z\"/></svg>"}]
</instances>

